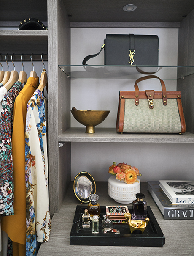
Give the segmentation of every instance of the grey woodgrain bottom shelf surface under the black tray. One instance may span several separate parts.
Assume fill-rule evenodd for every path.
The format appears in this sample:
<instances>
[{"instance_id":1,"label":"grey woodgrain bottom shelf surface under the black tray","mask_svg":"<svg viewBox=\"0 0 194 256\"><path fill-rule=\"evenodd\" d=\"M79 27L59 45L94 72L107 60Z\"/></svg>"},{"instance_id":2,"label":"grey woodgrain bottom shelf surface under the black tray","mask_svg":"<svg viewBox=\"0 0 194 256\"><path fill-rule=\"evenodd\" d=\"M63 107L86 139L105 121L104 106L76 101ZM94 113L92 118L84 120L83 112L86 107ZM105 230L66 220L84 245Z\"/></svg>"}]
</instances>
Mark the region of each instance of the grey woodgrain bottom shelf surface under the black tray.
<instances>
[{"instance_id":1,"label":"grey woodgrain bottom shelf surface under the black tray","mask_svg":"<svg viewBox=\"0 0 194 256\"><path fill-rule=\"evenodd\" d=\"M118 205L108 195L108 182L96 182L100 205ZM141 193L144 193L148 206L151 207L157 222L165 236L163 247L131 247L131 246L78 246L70 245L70 231L76 205L80 202L73 193L73 184L69 184L65 200L59 213L55 213L51 223L49 242L41 245L38 256L85 256L94 250L95 256L143 255L143 256L177 256L193 255L194 222L192 220L164 220L158 207L147 190L147 182L141 182ZM87 205L87 204L84 204ZM132 204L127 206L131 207Z\"/></svg>"}]
</instances>

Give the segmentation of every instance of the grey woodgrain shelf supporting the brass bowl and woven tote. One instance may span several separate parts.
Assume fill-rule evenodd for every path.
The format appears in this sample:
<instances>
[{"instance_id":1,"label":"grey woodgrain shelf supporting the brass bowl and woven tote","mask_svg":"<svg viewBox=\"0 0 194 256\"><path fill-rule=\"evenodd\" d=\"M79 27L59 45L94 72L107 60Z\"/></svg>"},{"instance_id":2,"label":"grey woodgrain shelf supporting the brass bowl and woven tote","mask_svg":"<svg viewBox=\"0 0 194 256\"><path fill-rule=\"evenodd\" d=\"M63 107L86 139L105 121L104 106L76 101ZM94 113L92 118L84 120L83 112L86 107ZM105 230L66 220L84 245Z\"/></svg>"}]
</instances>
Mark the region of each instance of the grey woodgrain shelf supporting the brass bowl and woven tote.
<instances>
[{"instance_id":1,"label":"grey woodgrain shelf supporting the brass bowl and woven tote","mask_svg":"<svg viewBox=\"0 0 194 256\"><path fill-rule=\"evenodd\" d=\"M70 128L58 137L59 142L133 142L133 143L194 143L194 134L120 134L115 128L97 128L85 133L85 128Z\"/></svg>"}]
</instances>

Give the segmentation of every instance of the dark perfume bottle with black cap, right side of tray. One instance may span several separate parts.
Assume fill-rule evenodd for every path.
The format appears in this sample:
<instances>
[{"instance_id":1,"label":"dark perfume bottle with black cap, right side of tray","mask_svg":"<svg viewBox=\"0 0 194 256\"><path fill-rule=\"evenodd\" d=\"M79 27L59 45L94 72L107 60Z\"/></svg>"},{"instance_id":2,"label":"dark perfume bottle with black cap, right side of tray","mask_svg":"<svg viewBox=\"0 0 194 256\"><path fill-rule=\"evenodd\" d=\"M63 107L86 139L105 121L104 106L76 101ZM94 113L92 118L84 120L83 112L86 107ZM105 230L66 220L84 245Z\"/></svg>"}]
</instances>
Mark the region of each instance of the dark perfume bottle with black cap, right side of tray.
<instances>
[{"instance_id":1,"label":"dark perfume bottle with black cap, right side of tray","mask_svg":"<svg viewBox=\"0 0 194 256\"><path fill-rule=\"evenodd\" d=\"M147 217L147 202L143 200L144 194L136 194L136 200L133 201L132 220L145 220Z\"/></svg>"}]
</instances>

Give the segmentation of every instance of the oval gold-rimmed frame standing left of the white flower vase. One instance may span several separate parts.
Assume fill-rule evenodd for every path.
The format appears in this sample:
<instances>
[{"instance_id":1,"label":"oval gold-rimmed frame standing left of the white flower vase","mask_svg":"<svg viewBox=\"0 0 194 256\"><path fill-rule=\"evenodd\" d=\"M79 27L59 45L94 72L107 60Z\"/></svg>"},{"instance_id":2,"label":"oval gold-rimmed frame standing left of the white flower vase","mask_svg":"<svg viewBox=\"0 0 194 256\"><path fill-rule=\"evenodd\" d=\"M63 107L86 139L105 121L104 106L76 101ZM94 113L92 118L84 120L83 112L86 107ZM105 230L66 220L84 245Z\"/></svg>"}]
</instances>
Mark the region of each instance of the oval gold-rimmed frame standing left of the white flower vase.
<instances>
[{"instance_id":1,"label":"oval gold-rimmed frame standing left of the white flower vase","mask_svg":"<svg viewBox=\"0 0 194 256\"><path fill-rule=\"evenodd\" d=\"M96 183L90 173L81 172L75 176L73 191L76 198L83 203L88 203L89 195L96 193Z\"/></svg>"}]
</instances>

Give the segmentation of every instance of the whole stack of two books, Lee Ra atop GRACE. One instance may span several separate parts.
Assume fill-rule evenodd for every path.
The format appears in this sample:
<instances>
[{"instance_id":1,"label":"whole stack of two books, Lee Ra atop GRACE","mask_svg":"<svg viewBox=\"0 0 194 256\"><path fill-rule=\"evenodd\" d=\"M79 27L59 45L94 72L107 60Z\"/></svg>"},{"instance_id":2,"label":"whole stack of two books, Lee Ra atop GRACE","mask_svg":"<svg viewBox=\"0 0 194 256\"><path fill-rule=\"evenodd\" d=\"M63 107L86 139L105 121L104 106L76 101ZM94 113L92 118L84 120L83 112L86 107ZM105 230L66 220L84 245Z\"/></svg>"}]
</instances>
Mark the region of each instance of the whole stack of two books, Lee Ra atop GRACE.
<instances>
[{"instance_id":1,"label":"whole stack of two books, Lee Ra atop GRACE","mask_svg":"<svg viewBox=\"0 0 194 256\"><path fill-rule=\"evenodd\" d=\"M164 219L194 220L194 182L148 181L148 191Z\"/></svg>"}]
</instances>

